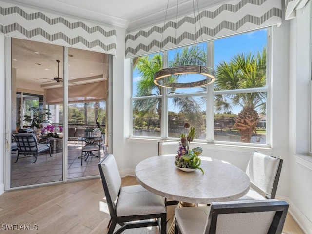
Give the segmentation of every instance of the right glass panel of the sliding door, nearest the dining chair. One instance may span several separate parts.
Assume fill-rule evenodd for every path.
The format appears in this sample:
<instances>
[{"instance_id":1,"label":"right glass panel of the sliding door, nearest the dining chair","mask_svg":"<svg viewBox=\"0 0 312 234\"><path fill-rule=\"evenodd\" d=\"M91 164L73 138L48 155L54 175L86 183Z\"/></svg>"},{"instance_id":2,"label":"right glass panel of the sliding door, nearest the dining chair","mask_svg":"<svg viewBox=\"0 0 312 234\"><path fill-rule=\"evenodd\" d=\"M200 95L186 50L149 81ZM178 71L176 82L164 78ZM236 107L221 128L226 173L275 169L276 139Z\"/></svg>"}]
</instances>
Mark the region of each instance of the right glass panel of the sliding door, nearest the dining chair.
<instances>
[{"instance_id":1,"label":"right glass panel of the sliding door, nearest the dining chair","mask_svg":"<svg viewBox=\"0 0 312 234\"><path fill-rule=\"evenodd\" d=\"M108 55L68 48L68 179L99 175L106 152L107 68ZM86 131L96 129L101 135L86 139Z\"/></svg>"}]
</instances>

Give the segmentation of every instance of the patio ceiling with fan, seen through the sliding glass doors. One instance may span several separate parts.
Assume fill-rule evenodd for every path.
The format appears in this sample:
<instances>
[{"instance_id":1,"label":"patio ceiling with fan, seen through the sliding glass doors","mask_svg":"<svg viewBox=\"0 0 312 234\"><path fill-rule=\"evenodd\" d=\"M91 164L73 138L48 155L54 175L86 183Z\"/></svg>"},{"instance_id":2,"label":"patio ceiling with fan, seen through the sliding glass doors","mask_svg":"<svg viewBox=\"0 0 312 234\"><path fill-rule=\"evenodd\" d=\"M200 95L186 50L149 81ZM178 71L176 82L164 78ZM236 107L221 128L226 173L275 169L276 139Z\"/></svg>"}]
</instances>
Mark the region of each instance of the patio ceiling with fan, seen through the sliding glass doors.
<instances>
[{"instance_id":1,"label":"patio ceiling with fan, seen through the sliding glass doors","mask_svg":"<svg viewBox=\"0 0 312 234\"><path fill-rule=\"evenodd\" d=\"M68 48L69 85L106 80L107 55L99 52ZM63 47L31 40L12 39L12 68L16 71L16 86L42 91L61 87L54 78L63 78ZM14 77L14 76L13 76Z\"/></svg>"}]
</instances>

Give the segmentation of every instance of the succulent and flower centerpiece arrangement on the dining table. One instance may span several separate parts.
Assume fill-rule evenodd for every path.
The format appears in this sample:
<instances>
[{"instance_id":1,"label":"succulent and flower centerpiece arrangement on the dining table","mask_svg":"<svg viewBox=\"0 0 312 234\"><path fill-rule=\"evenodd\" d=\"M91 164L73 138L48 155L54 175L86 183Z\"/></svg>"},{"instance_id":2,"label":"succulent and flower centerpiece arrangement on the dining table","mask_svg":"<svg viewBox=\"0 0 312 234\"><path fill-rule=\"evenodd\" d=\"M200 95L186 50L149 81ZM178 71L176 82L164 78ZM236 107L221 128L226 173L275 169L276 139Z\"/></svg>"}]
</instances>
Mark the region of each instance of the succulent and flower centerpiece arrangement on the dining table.
<instances>
[{"instance_id":1,"label":"succulent and flower centerpiece arrangement on the dining table","mask_svg":"<svg viewBox=\"0 0 312 234\"><path fill-rule=\"evenodd\" d=\"M175 165L178 168L199 169L204 173L203 169L200 167L201 160L198 157L198 155L203 152L202 148L196 147L190 150L190 142L193 141L196 136L196 129L195 127L190 128L189 123L185 123L184 128L186 128L186 133L180 134L181 143L177 151ZM190 131L188 131L189 128Z\"/></svg>"}]
</instances>

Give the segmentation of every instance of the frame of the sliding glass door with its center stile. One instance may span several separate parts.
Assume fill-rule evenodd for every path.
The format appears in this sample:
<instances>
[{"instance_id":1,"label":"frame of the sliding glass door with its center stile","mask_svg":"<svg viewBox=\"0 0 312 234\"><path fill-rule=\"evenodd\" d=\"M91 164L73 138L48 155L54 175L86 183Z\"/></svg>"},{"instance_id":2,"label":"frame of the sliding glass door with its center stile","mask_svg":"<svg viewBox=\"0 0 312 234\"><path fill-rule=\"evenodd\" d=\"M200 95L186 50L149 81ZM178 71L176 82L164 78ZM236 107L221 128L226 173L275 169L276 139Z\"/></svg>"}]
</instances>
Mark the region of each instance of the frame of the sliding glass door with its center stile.
<instances>
[{"instance_id":1,"label":"frame of the sliding glass door with its center stile","mask_svg":"<svg viewBox=\"0 0 312 234\"><path fill-rule=\"evenodd\" d=\"M42 186L42 184L32 184L32 185L25 185L25 186L20 186L20 187L11 187L11 135L12 135L12 126L11 126L11 118L12 118L12 38L11 37L5 37L5 137L6 137L6 146L5 146L5 154L4 154L4 182L5 182L5 190L15 190L15 189L20 189L20 188L31 188L31 187L38 187ZM67 182L68 180L70 181L75 181L75 180L82 180L82 179L90 179L90 178L98 178L99 175L94 175L94 176L87 176L87 177L77 177L77 178L72 178L68 179L68 143L67 143L67 138L68 138L68 133L66 129L68 129L68 47L62 46L63 48L63 176L62 180L59 181L53 181L53 182L47 182L44 183L44 185L52 185L52 184L59 184L59 183L64 183ZM112 77L112 55L109 55L109 77ZM107 89L112 88L112 82L108 82L109 86ZM106 100L106 112L108 115L108 121L106 126L106 130L109 130L109 133L107 132L107 139L108 139L108 145L109 145L109 151L111 151L111 146L112 146L112 141L111 141L111 134L112 134L112 129L109 128L112 126L112 118L111 118L111 92L108 92L109 97L107 97L108 100ZM46 103L44 103L46 104Z\"/></svg>"}]
</instances>

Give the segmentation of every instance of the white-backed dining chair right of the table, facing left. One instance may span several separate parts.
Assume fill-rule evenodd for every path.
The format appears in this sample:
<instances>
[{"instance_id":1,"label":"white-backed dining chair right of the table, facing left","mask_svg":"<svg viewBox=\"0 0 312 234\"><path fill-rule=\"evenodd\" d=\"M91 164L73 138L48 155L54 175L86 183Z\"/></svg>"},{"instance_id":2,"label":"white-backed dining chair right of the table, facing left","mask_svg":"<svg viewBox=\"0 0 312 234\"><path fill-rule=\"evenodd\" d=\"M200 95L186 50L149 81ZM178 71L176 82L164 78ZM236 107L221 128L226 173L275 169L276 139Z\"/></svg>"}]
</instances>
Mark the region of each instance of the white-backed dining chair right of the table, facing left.
<instances>
[{"instance_id":1,"label":"white-backed dining chair right of the table, facing left","mask_svg":"<svg viewBox=\"0 0 312 234\"><path fill-rule=\"evenodd\" d=\"M246 168L251 188L238 200L274 199L282 164L282 159L254 151Z\"/></svg>"}]
</instances>

